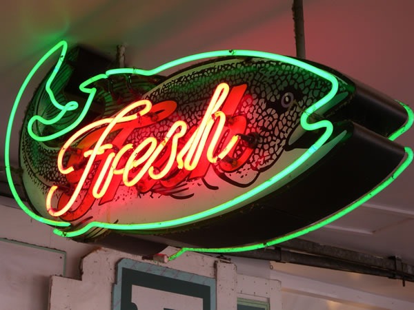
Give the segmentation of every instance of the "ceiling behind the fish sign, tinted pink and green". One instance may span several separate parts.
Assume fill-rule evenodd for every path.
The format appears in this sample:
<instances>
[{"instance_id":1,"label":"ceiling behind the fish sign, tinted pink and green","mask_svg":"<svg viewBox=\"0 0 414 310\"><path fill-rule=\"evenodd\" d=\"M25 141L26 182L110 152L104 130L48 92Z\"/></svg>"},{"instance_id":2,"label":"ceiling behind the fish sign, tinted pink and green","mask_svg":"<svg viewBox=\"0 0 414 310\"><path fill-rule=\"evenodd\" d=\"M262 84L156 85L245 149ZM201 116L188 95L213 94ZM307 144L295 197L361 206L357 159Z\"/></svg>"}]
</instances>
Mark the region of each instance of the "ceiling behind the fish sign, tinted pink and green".
<instances>
[{"instance_id":1,"label":"ceiling behind the fish sign, tinted pink and green","mask_svg":"<svg viewBox=\"0 0 414 310\"><path fill-rule=\"evenodd\" d=\"M86 43L137 68L210 50L263 50L295 56L288 0L16 0L0 12L1 139L8 113L32 65L61 39ZM353 76L414 107L414 2L305 0L306 58ZM39 83L42 72L37 76ZM28 102L37 83L23 96ZM18 141L19 107L12 141ZM414 130L398 138L414 147ZM3 154L3 145L1 154ZM17 143L12 165L17 166ZM1 156L0 165L4 165ZM393 184L332 225L304 238L414 264L411 165ZM301 271L302 272L302 271Z\"/></svg>"}]
</instances>

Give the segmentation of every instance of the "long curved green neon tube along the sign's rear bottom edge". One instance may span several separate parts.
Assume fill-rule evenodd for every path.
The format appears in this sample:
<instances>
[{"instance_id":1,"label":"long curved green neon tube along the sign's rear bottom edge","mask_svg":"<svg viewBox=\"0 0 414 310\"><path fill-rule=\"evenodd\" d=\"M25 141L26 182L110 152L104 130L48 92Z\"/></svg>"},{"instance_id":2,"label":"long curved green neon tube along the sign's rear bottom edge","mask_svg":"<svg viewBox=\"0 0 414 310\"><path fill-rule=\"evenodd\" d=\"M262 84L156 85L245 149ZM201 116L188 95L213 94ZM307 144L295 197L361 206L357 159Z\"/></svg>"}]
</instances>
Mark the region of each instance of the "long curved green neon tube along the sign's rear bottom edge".
<instances>
[{"instance_id":1,"label":"long curved green neon tube along the sign's rear bottom edge","mask_svg":"<svg viewBox=\"0 0 414 310\"><path fill-rule=\"evenodd\" d=\"M380 185L375 187L371 192L368 192L365 196L362 196L359 198L359 200L356 200L354 203L349 205L348 207L342 209L341 211L338 211L337 213L333 214L332 216L328 216L327 218L324 218L323 220L320 220L319 222L306 227L304 229L301 229L299 231L294 231L291 234L287 234L285 236L270 240L268 242L262 242L257 243L255 245L246 245L244 247L224 247L224 248L217 248L217 249L202 249L202 248L192 248L192 247L184 247L181 250L179 250L176 254L173 254L168 259L174 260L175 258L181 256L186 251L195 251L195 252L210 252L210 253L232 253L232 252L242 252L242 251L252 251L255 249L262 249L264 247L270 247L272 245L277 245L278 243L291 240L293 238L297 238L300 236L303 236L305 234L308 234L311 231L315 231L316 229L319 229L321 227L324 227L325 225L328 225L332 223L333 221L337 220L338 218L341 218L342 216L348 214L349 212L355 210L359 205L362 205L363 203L366 203L367 200L371 199L373 196L378 194L382 191L385 187L390 185L393 180L397 178L397 176L400 176L400 174L410 165L410 163L413 161L413 150L409 147L404 148L406 151L406 159L404 162L398 167L395 172L386 178Z\"/></svg>"}]
</instances>

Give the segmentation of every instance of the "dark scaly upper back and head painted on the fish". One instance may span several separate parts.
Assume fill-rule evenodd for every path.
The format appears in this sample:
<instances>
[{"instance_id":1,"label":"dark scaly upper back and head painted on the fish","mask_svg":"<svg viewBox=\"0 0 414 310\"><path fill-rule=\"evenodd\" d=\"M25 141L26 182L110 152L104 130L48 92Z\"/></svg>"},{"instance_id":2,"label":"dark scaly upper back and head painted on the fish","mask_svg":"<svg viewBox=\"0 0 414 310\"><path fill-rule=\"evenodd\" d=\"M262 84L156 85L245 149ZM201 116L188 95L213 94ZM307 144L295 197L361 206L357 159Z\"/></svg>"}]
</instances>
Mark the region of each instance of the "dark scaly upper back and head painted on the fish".
<instances>
[{"instance_id":1,"label":"dark scaly upper back and head painted on the fish","mask_svg":"<svg viewBox=\"0 0 414 310\"><path fill-rule=\"evenodd\" d=\"M236 172L218 171L219 176L239 186L250 184L257 174L277 162L291 132L299 125L302 112L330 90L327 81L295 65L268 59L216 61L195 73L182 72L171 76L161 87L148 92L145 99L153 103L174 100L178 103L177 110L160 122L156 132L152 127L136 130L131 142L142 141L152 134L161 141L171 124L178 120L186 121L189 127L197 126L215 88L222 82L230 87L248 85L235 115L246 116L245 134L256 133L259 136L259 143L245 165ZM319 87L317 92L311 86ZM281 100L287 92L293 94L294 101L284 107ZM236 156L243 152L243 148L239 145ZM218 165L216 168L219 169ZM257 173L251 174L251 170Z\"/></svg>"}]
</instances>

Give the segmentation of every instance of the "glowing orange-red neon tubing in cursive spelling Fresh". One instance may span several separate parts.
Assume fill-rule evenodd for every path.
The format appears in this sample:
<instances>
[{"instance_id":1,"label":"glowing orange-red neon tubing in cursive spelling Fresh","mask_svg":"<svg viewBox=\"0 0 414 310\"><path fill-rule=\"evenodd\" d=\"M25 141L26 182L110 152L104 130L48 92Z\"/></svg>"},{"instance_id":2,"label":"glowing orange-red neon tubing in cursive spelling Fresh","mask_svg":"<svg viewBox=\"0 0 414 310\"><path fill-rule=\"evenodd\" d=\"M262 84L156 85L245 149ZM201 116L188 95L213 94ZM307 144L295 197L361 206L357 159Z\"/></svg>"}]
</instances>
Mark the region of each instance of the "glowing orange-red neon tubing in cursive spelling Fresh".
<instances>
[{"instance_id":1,"label":"glowing orange-red neon tubing in cursive spelling Fresh","mask_svg":"<svg viewBox=\"0 0 414 310\"><path fill-rule=\"evenodd\" d=\"M152 105L148 100L136 101L119 111L114 117L104 118L81 128L66 141L58 154L57 165L62 174L70 175L75 172L79 174L77 172L79 167L74 164L75 159L73 159L79 158L79 154L71 157L66 164L68 167L63 165L63 158L72 144L85 135L96 137L97 142L93 144L89 142L89 145L93 145L92 149L83 151L81 157L87 159L87 162L81 168L83 172L79 174L79 180L73 179L76 187L70 197L64 199L66 203L63 205L59 203L57 208L52 207L52 199L59 187L57 185L50 187L46 197L48 213L52 216L65 215L74 205L81 190L85 189L83 187L90 174L97 174L95 181L92 181L90 186L92 187L92 196L99 199L105 196L115 176L121 177L121 182L131 187L137 185L144 176L152 180L161 180L168 176L172 169L176 169L174 167L188 172L193 171L199 165L201 156L206 156L209 163L218 163L234 149L239 141L239 136L233 134L230 139L226 138L227 144L223 145L221 151L217 150L226 126L226 114L220 108L226 101L229 90L230 87L226 83L217 85L199 126L195 130L189 131L186 122L175 121L162 141L157 141L157 138L150 136L136 147L132 143L119 145L120 141L115 141L117 138L112 143L103 143L108 134L116 130L123 132L124 127L128 127L132 122L142 126L153 123L152 120L148 121L147 119L151 118L155 110L159 111L163 118L167 117L175 110L176 103L173 101L164 101L156 105ZM140 107L139 112L132 113L133 110L138 110ZM131 130L126 132L131 132ZM184 138L186 134L190 137L185 143L181 143L182 146L179 149L180 139ZM125 139L126 136L124 136ZM206 143L208 143L207 147ZM79 142L78 146L81 144ZM115 149L118 150L115 151ZM100 168L92 172L92 165L97 161L101 161ZM188 173L184 174L184 176L186 175Z\"/></svg>"}]
</instances>

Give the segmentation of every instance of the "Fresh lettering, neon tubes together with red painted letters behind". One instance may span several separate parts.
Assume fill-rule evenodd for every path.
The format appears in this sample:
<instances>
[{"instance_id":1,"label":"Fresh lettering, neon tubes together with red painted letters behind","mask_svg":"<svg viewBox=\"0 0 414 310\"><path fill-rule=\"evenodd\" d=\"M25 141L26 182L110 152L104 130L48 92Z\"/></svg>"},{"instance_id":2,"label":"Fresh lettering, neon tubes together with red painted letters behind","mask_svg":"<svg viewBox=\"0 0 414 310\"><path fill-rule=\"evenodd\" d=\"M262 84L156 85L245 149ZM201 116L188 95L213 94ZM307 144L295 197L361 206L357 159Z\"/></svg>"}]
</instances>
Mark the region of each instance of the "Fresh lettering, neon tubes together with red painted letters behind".
<instances>
[{"instance_id":1,"label":"Fresh lettering, neon tubes together with red painted letters behind","mask_svg":"<svg viewBox=\"0 0 414 310\"><path fill-rule=\"evenodd\" d=\"M174 101L163 101L156 105L152 105L148 100L136 101L113 117L103 118L83 127L66 141L57 158L59 172L66 175L70 184L76 185L70 195L61 196L57 208L52 207L52 198L59 187L53 185L46 197L48 213L73 220L75 216L70 216L68 211L91 174L93 178L89 188L92 190L89 190L88 197L84 198L89 201L83 201L82 206L78 207L77 211L81 214L89 209L91 200L105 200L108 199L106 196L113 196L119 183L131 187L145 178L149 180L148 187L154 185L157 180L168 187L190 174L193 174L193 177L203 176L210 164L219 163L225 156L233 154L239 141L237 133L244 133L246 130L246 119L243 116L235 116L238 117L238 121L233 121L233 125L226 122L228 115L234 114L245 90L246 85L233 87L231 92L228 84L217 85L199 125L188 128L186 122L175 121L162 141L149 136L139 145L125 143L128 135L137 127L152 125L167 118L177 107ZM133 113L134 110L139 112ZM157 116L155 119L152 117L154 115ZM229 130L232 126L233 130ZM225 127L230 134L223 138ZM105 143L108 141L108 135L113 132L119 133L111 143ZM87 138L82 138L85 135ZM73 154L71 145L75 142L77 152ZM221 150L218 150L219 145ZM70 158L65 166L63 158L68 152ZM250 154L251 149L246 149L241 157L245 161ZM97 161L100 164L96 169L94 164ZM226 163L221 163L222 167L226 166ZM242 163L233 163L233 168L240 165ZM172 169L179 169L179 173L166 178ZM79 214L76 217L79 217Z\"/></svg>"}]
</instances>

